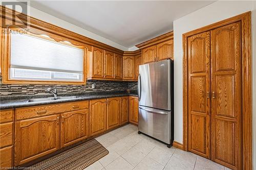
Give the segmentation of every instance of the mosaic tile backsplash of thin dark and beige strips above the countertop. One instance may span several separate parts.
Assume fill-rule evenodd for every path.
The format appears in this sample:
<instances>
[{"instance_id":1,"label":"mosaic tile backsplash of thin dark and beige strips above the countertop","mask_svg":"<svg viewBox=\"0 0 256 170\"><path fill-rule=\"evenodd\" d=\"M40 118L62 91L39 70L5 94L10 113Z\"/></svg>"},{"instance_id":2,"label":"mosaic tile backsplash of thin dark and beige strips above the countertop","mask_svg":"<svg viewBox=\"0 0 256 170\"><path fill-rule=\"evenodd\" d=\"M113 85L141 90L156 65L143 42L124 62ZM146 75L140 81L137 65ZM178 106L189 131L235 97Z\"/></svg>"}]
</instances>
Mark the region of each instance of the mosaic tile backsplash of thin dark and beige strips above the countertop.
<instances>
[{"instance_id":1,"label":"mosaic tile backsplash of thin dark and beige strips above the countertop","mask_svg":"<svg viewBox=\"0 0 256 170\"><path fill-rule=\"evenodd\" d=\"M61 93L86 93L86 92L100 92L100 91L123 91L123 90L137 90L137 82L122 82L122 81L99 81L88 80L86 85L7 85L2 84L2 77L0 77L0 95L44 95L49 94L46 89L57 88L59 94ZM92 88L92 84L95 88Z\"/></svg>"}]
</instances>

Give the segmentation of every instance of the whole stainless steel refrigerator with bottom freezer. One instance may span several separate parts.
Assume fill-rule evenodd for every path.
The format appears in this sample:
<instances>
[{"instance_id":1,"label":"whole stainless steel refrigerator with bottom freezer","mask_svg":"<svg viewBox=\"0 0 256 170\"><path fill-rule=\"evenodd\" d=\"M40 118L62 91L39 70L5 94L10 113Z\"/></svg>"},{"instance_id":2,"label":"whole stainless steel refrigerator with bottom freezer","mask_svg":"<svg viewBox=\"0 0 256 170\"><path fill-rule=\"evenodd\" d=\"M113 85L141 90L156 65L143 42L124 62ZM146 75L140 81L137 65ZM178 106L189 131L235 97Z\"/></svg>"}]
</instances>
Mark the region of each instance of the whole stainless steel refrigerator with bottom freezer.
<instances>
[{"instance_id":1,"label":"whole stainless steel refrigerator with bottom freezer","mask_svg":"<svg viewBox=\"0 0 256 170\"><path fill-rule=\"evenodd\" d=\"M174 139L174 68L172 60L139 66L138 133L161 140L170 147Z\"/></svg>"}]
</instances>

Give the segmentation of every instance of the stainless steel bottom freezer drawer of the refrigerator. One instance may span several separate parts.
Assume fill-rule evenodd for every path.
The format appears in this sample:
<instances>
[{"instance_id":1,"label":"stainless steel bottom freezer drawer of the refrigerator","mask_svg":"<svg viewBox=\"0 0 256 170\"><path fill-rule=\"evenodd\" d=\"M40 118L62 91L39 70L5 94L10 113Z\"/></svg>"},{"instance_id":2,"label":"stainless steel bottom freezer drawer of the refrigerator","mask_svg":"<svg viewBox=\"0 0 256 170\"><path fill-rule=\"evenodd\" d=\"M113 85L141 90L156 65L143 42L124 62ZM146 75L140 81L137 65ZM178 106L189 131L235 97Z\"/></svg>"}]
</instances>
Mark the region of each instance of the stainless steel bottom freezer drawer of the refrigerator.
<instances>
[{"instance_id":1,"label":"stainless steel bottom freezer drawer of the refrigerator","mask_svg":"<svg viewBox=\"0 0 256 170\"><path fill-rule=\"evenodd\" d=\"M138 130L170 144L170 111L139 106Z\"/></svg>"}]
</instances>

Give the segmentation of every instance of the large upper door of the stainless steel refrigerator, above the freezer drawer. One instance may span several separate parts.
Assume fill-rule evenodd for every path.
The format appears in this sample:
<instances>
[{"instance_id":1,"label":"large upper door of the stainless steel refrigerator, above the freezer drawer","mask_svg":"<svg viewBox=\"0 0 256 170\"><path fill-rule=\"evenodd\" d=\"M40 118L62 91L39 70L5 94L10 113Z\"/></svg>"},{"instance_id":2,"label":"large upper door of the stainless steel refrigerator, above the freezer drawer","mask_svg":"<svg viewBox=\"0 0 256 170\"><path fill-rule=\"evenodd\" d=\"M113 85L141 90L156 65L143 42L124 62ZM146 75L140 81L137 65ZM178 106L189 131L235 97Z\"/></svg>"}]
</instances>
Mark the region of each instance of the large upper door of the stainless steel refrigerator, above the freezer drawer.
<instances>
[{"instance_id":1,"label":"large upper door of the stainless steel refrigerator, above the freezer drawer","mask_svg":"<svg viewBox=\"0 0 256 170\"><path fill-rule=\"evenodd\" d=\"M170 110L171 61L163 60L139 66L139 105Z\"/></svg>"}]
</instances>

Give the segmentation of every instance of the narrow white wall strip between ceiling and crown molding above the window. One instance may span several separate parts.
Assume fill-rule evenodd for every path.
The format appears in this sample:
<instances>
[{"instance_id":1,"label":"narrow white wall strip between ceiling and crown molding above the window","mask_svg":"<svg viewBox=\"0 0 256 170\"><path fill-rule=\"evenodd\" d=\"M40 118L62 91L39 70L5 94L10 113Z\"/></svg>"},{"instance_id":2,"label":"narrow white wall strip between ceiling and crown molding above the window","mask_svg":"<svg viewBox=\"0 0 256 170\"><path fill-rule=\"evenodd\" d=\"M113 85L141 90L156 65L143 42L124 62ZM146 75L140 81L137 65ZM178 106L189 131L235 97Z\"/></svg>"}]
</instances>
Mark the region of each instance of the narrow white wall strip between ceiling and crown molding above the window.
<instances>
[{"instance_id":1,"label":"narrow white wall strip between ceiling and crown molding above the window","mask_svg":"<svg viewBox=\"0 0 256 170\"><path fill-rule=\"evenodd\" d=\"M13 1L15 1L15 0L13 0ZM29 7L28 15L32 16L34 18L52 23L53 25L59 26L61 28L67 29L67 30L72 31L72 32L75 32L77 34L89 37L91 39L97 40L99 42L108 44L108 45L113 46L113 47L116 47L116 48L118 48L122 51L128 51L129 50L129 48L127 48L125 46L122 46L122 45L120 45L116 42L113 42L109 39L106 39L106 38L101 37L97 34L94 34L94 33L90 32L88 30L84 30L84 29L82 29L78 26L73 25L72 23L66 22L62 19L59 19L59 18L57 18L55 16L52 16L50 14L47 14L45 12L42 12L38 9L33 8L33 7Z\"/></svg>"}]
</instances>

